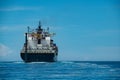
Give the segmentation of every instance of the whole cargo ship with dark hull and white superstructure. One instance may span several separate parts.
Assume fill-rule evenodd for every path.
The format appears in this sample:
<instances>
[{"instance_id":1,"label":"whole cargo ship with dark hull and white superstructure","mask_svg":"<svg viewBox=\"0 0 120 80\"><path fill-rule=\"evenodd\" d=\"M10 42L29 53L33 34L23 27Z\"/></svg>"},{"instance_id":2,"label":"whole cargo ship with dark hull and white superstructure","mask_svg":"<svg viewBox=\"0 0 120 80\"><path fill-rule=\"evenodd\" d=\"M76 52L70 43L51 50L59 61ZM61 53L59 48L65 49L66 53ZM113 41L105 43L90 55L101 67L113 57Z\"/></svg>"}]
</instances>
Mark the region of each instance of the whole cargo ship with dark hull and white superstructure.
<instances>
[{"instance_id":1,"label":"whole cargo ship with dark hull and white superstructure","mask_svg":"<svg viewBox=\"0 0 120 80\"><path fill-rule=\"evenodd\" d=\"M24 62L55 62L58 56L58 47L52 37L55 33L41 28L41 22L36 29L28 27L25 33L25 43L20 52Z\"/></svg>"}]
</instances>

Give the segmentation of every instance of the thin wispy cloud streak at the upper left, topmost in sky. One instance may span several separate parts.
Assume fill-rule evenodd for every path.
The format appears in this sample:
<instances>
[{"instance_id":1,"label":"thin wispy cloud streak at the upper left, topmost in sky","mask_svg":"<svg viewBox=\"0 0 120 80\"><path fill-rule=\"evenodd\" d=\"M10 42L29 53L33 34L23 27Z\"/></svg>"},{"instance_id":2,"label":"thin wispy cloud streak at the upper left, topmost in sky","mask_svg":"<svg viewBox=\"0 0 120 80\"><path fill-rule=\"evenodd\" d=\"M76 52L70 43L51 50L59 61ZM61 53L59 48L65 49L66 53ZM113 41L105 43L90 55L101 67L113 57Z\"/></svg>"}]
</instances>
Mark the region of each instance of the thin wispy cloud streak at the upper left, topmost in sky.
<instances>
[{"instance_id":1,"label":"thin wispy cloud streak at the upper left, topmost in sky","mask_svg":"<svg viewBox=\"0 0 120 80\"><path fill-rule=\"evenodd\" d=\"M0 8L0 11L24 11L24 10L38 10L38 9L40 9L40 7L15 6L15 7Z\"/></svg>"}]
</instances>

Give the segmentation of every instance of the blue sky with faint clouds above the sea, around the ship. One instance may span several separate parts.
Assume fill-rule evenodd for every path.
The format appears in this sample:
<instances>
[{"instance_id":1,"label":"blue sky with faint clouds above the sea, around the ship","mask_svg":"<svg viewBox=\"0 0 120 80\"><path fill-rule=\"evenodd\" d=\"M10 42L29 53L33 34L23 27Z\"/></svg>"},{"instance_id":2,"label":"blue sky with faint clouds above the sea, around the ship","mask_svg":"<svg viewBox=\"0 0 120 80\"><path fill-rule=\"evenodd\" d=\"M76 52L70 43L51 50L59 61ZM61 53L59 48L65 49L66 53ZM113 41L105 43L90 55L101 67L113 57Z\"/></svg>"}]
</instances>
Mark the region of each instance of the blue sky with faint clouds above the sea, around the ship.
<instances>
[{"instance_id":1,"label":"blue sky with faint clouds above the sea, around the ship","mask_svg":"<svg viewBox=\"0 0 120 80\"><path fill-rule=\"evenodd\" d=\"M56 33L58 61L120 61L119 0L0 0L0 61L22 61L39 21Z\"/></svg>"}]
</instances>

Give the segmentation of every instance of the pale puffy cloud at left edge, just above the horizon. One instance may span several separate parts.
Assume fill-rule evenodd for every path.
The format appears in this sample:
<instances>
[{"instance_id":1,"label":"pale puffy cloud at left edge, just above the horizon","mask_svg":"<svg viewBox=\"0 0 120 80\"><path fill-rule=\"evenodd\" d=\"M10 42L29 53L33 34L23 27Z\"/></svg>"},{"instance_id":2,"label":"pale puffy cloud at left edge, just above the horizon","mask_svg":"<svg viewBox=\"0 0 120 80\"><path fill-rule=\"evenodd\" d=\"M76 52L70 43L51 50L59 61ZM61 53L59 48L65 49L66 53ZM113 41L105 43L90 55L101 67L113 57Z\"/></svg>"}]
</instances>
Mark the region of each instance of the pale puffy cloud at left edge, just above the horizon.
<instances>
[{"instance_id":1,"label":"pale puffy cloud at left edge, just above the horizon","mask_svg":"<svg viewBox=\"0 0 120 80\"><path fill-rule=\"evenodd\" d=\"M9 47L0 43L0 57L7 56L7 55L11 54L12 52L13 51Z\"/></svg>"}]
</instances>

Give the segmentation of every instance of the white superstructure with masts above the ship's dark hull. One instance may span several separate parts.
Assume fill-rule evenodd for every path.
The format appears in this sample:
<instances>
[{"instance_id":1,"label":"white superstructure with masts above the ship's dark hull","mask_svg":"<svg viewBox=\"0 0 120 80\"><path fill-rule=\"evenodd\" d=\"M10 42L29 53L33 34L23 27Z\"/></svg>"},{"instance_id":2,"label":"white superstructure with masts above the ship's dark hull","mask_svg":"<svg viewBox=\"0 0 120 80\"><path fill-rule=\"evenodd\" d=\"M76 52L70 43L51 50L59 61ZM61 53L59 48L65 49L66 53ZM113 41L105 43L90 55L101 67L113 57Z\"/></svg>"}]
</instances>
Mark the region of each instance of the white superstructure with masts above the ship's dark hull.
<instances>
[{"instance_id":1,"label":"white superstructure with masts above the ship's dark hull","mask_svg":"<svg viewBox=\"0 0 120 80\"><path fill-rule=\"evenodd\" d=\"M41 24L39 23L39 26L36 30L31 30L28 27L28 33L27 33L27 51L30 53L53 53L56 51L57 46L55 43L53 43L53 40L51 39L52 36L54 36L55 33L49 33L48 29L42 29ZM22 52L25 52L25 46L22 50Z\"/></svg>"}]
</instances>

